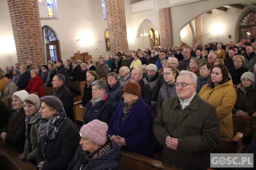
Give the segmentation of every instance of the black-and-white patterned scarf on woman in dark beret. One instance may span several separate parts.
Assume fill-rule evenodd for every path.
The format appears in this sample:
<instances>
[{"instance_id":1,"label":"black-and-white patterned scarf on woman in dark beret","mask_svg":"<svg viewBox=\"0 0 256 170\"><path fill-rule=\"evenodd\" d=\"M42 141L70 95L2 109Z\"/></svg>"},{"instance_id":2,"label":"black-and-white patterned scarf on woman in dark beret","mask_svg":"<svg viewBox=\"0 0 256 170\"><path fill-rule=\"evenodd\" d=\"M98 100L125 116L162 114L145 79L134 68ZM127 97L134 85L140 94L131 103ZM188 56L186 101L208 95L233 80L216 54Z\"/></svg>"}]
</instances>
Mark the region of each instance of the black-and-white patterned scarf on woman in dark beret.
<instances>
[{"instance_id":1,"label":"black-and-white patterned scarf on woman in dark beret","mask_svg":"<svg viewBox=\"0 0 256 170\"><path fill-rule=\"evenodd\" d=\"M42 119L39 127L39 138L41 140L54 140L66 119L67 115L63 107L59 114L54 115L51 119Z\"/></svg>"}]
</instances>

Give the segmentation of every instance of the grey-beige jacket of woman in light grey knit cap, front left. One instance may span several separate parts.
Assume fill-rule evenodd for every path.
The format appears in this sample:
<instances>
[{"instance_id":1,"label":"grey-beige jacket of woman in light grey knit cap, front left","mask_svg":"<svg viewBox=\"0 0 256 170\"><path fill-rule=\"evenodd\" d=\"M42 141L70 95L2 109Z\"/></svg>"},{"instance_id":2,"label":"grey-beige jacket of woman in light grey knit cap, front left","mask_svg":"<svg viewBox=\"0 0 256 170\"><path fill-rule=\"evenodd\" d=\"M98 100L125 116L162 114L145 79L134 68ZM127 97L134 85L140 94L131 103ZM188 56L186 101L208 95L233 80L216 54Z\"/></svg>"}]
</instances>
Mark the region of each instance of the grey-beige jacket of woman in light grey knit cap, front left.
<instances>
[{"instance_id":1,"label":"grey-beige jacket of woman in light grey knit cap, front left","mask_svg":"<svg viewBox=\"0 0 256 170\"><path fill-rule=\"evenodd\" d=\"M24 153L25 153L25 158L26 160L35 160L35 157L37 155L37 145L39 143L39 137L38 137L38 132L39 132L39 127L41 124L41 119L42 116L41 114L37 111L33 118L29 121L28 124L26 124L26 140L25 140L25 146L24 146ZM30 143L28 141L28 126L30 126Z\"/></svg>"}]
</instances>

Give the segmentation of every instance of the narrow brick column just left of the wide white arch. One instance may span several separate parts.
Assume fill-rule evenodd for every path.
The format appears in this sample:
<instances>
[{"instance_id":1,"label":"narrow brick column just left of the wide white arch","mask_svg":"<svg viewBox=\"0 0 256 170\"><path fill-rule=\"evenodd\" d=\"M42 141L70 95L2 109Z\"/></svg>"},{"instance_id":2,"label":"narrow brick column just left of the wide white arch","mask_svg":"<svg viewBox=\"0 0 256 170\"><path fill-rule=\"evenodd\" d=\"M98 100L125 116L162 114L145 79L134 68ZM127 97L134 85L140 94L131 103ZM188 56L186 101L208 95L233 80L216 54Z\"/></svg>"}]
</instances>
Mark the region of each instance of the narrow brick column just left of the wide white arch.
<instances>
[{"instance_id":1,"label":"narrow brick column just left of the wide white arch","mask_svg":"<svg viewBox=\"0 0 256 170\"><path fill-rule=\"evenodd\" d=\"M158 11L159 36L161 48L173 46L171 8L162 8Z\"/></svg>"}]
</instances>

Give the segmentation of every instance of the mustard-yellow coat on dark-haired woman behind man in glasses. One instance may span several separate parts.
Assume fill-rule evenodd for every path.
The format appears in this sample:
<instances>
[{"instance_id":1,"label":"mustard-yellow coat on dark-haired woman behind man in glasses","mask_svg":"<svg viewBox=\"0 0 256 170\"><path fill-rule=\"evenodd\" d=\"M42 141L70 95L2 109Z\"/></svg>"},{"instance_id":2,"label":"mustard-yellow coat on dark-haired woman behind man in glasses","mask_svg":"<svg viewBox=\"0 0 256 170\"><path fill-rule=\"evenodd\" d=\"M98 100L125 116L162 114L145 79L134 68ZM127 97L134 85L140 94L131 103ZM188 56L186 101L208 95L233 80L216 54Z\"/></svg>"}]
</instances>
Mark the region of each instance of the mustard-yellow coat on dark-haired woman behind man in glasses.
<instances>
[{"instance_id":1,"label":"mustard-yellow coat on dark-haired woman behind man in glasses","mask_svg":"<svg viewBox=\"0 0 256 170\"><path fill-rule=\"evenodd\" d=\"M216 85L214 88L210 88L208 84L205 84L200 90L199 96L215 106L217 117L221 124L221 137L232 139L232 109L237 100L232 80L222 85Z\"/></svg>"}]
</instances>

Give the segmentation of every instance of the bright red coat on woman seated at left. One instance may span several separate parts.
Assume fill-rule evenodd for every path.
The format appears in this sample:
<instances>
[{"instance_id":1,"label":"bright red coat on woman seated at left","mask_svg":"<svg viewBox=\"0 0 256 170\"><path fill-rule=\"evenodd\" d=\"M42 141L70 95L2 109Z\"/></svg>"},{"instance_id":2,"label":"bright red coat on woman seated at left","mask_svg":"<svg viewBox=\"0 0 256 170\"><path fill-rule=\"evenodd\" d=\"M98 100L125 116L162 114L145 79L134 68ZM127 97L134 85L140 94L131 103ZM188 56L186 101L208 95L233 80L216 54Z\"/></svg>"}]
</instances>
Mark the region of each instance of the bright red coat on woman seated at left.
<instances>
[{"instance_id":1,"label":"bright red coat on woman seated at left","mask_svg":"<svg viewBox=\"0 0 256 170\"><path fill-rule=\"evenodd\" d=\"M39 98L45 96L43 81L39 75L36 75L34 78L31 77L28 86L24 90L29 93L37 91Z\"/></svg>"}]
</instances>

